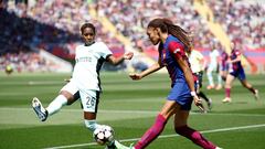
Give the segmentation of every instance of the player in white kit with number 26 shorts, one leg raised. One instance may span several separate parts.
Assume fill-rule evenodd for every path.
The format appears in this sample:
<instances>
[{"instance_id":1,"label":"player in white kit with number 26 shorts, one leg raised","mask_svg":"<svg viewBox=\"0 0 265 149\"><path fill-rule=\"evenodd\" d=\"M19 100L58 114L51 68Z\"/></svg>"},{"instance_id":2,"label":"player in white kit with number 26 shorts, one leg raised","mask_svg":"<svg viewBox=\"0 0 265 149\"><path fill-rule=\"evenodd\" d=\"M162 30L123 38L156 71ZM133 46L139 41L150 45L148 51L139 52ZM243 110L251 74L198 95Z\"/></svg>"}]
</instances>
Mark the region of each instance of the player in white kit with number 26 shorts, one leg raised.
<instances>
[{"instance_id":1,"label":"player in white kit with number 26 shorts, one leg raised","mask_svg":"<svg viewBox=\"0 0 265 149\"><path fill-rule=\"evenodd\" d=\"M134 53L128 52L120 57L113 56L105 43L95 42L96 29L92 23L84 23L81 26L81 33L85 44L76 47L72 78L46 108L36 97L32 99L32 107L40 120L45 121L49 116L59 111L64 105L71 105L80 97L85 126L93 132L100 126L96 123L96 115L99 93L102 92L99 70L103 63L109 62L117 65L124 60L130 60Z\"/></svg>"}]
</instances>

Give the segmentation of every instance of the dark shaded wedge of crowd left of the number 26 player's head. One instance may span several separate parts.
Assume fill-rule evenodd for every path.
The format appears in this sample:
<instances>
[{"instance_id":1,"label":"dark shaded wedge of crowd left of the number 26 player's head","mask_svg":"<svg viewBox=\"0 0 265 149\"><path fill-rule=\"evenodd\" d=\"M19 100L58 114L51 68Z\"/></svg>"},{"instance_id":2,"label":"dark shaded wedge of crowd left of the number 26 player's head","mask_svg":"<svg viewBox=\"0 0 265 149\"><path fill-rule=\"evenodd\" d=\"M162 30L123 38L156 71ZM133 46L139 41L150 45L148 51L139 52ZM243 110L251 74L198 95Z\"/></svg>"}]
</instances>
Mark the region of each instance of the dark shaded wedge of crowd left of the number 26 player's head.
<instances>
[{"instance_id":1,"label":"dark shaded wedge of crowd left of the number 26 player's head","mask_svg":"<svg viewBox=\"0 0 265 149\"><path fill-rule=\"evenodd\" d=\"M19 12L19 9L15 9L14 12L9 12L4 9L0 10L0 29L2 29L0 32L1 54L26 52L30 49L42 46L49 51L54 44L76 40L75 35L59 30L53 25L32 20ZM21 15L18 17L18 14Z\"/></svg>"}]
</instances>

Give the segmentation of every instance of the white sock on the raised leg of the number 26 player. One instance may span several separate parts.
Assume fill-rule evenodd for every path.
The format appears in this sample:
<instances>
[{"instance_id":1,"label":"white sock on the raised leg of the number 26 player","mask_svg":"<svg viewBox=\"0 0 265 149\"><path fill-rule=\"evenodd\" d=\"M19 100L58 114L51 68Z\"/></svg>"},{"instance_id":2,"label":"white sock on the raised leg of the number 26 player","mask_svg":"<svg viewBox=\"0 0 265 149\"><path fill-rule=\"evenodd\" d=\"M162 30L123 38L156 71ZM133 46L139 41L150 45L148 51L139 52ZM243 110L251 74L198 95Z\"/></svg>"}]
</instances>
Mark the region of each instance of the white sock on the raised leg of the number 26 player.
<instances>
[{"instance_id":1,"label":"white sock on the raised leg of the number 26 player","mask_svg":"<svg viewBox=\"0 0 265 149\"><path fill-rule=\"evenodd\" d=\"M67 104L67 98L63 95L59 95L50 105L46 107L49 116L57 113L62 106Z\"/></svg>"}]
</instances>

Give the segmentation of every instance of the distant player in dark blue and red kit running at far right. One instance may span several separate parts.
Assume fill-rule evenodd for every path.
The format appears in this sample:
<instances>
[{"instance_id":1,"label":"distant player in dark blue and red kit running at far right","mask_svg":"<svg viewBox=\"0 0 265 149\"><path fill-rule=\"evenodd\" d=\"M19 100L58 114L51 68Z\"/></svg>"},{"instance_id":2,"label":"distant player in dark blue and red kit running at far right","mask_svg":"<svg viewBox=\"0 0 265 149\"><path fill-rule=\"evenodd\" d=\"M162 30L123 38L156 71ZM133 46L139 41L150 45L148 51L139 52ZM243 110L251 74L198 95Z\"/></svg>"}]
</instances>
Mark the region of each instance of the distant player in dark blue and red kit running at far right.
<instances>
[{"instance_id":1,"label":"distant player in dark blue and red kit running at far right","mask_svg":"<svg viewBox=\"0 0 265 149\"><path fill-rule=\"evenodd\" d=\"M226 76L226 81L225 81L225 98L222 100L223 103L231 103L231 88L232 88L232 83L235 79L235 77L237 77L241 82L241 84L247 88L251 93L253 93L253 95L255 96L256 99L258 99L258 91L255 89L247 81L246 81L246 76L245 76L245 72L244 68L241 64L241 51L239 49L240 44L236 42L232 42L231 43L231 55L230 58L227 60L227 63L230 64L230 70L229 70L229 74Z\"/></svg>"}]
</instances>

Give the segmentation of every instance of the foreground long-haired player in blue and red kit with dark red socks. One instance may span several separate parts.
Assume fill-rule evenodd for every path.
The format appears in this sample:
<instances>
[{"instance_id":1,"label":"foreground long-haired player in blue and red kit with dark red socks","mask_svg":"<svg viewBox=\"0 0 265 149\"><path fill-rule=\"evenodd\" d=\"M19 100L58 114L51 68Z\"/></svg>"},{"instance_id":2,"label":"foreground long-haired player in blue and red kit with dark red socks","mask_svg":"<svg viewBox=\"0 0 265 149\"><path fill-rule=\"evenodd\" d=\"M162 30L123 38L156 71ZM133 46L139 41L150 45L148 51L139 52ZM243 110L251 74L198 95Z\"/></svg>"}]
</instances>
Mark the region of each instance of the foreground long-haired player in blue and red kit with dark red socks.
<instances>
[{"instance_id":1,"label":"foreground long-haired player in blue and red kit with dark red socks","mask_svg":"<svg viewBox=\"0 0 265 149\"><path fill-rule=\"evenodd\" d=\"M216 146L202 135L188 126L189 111L192 100L200 105L201 100L195 94L194 78L190 68L186 51L191 49L188 32L174 25L168 19L155 19L149 22L147 35L153 45L159 44L159 60L148 70L139 74L130 74L135 81L141 79L162 67L167 67L171 78L171 91L157 115L155 124L146 131L134 147L117 146L118 149L144 149L153 141L163 130L171 116L174 117L177 134L190 139L204 149L215 149Z\"/></svg>"}]
</instances>

